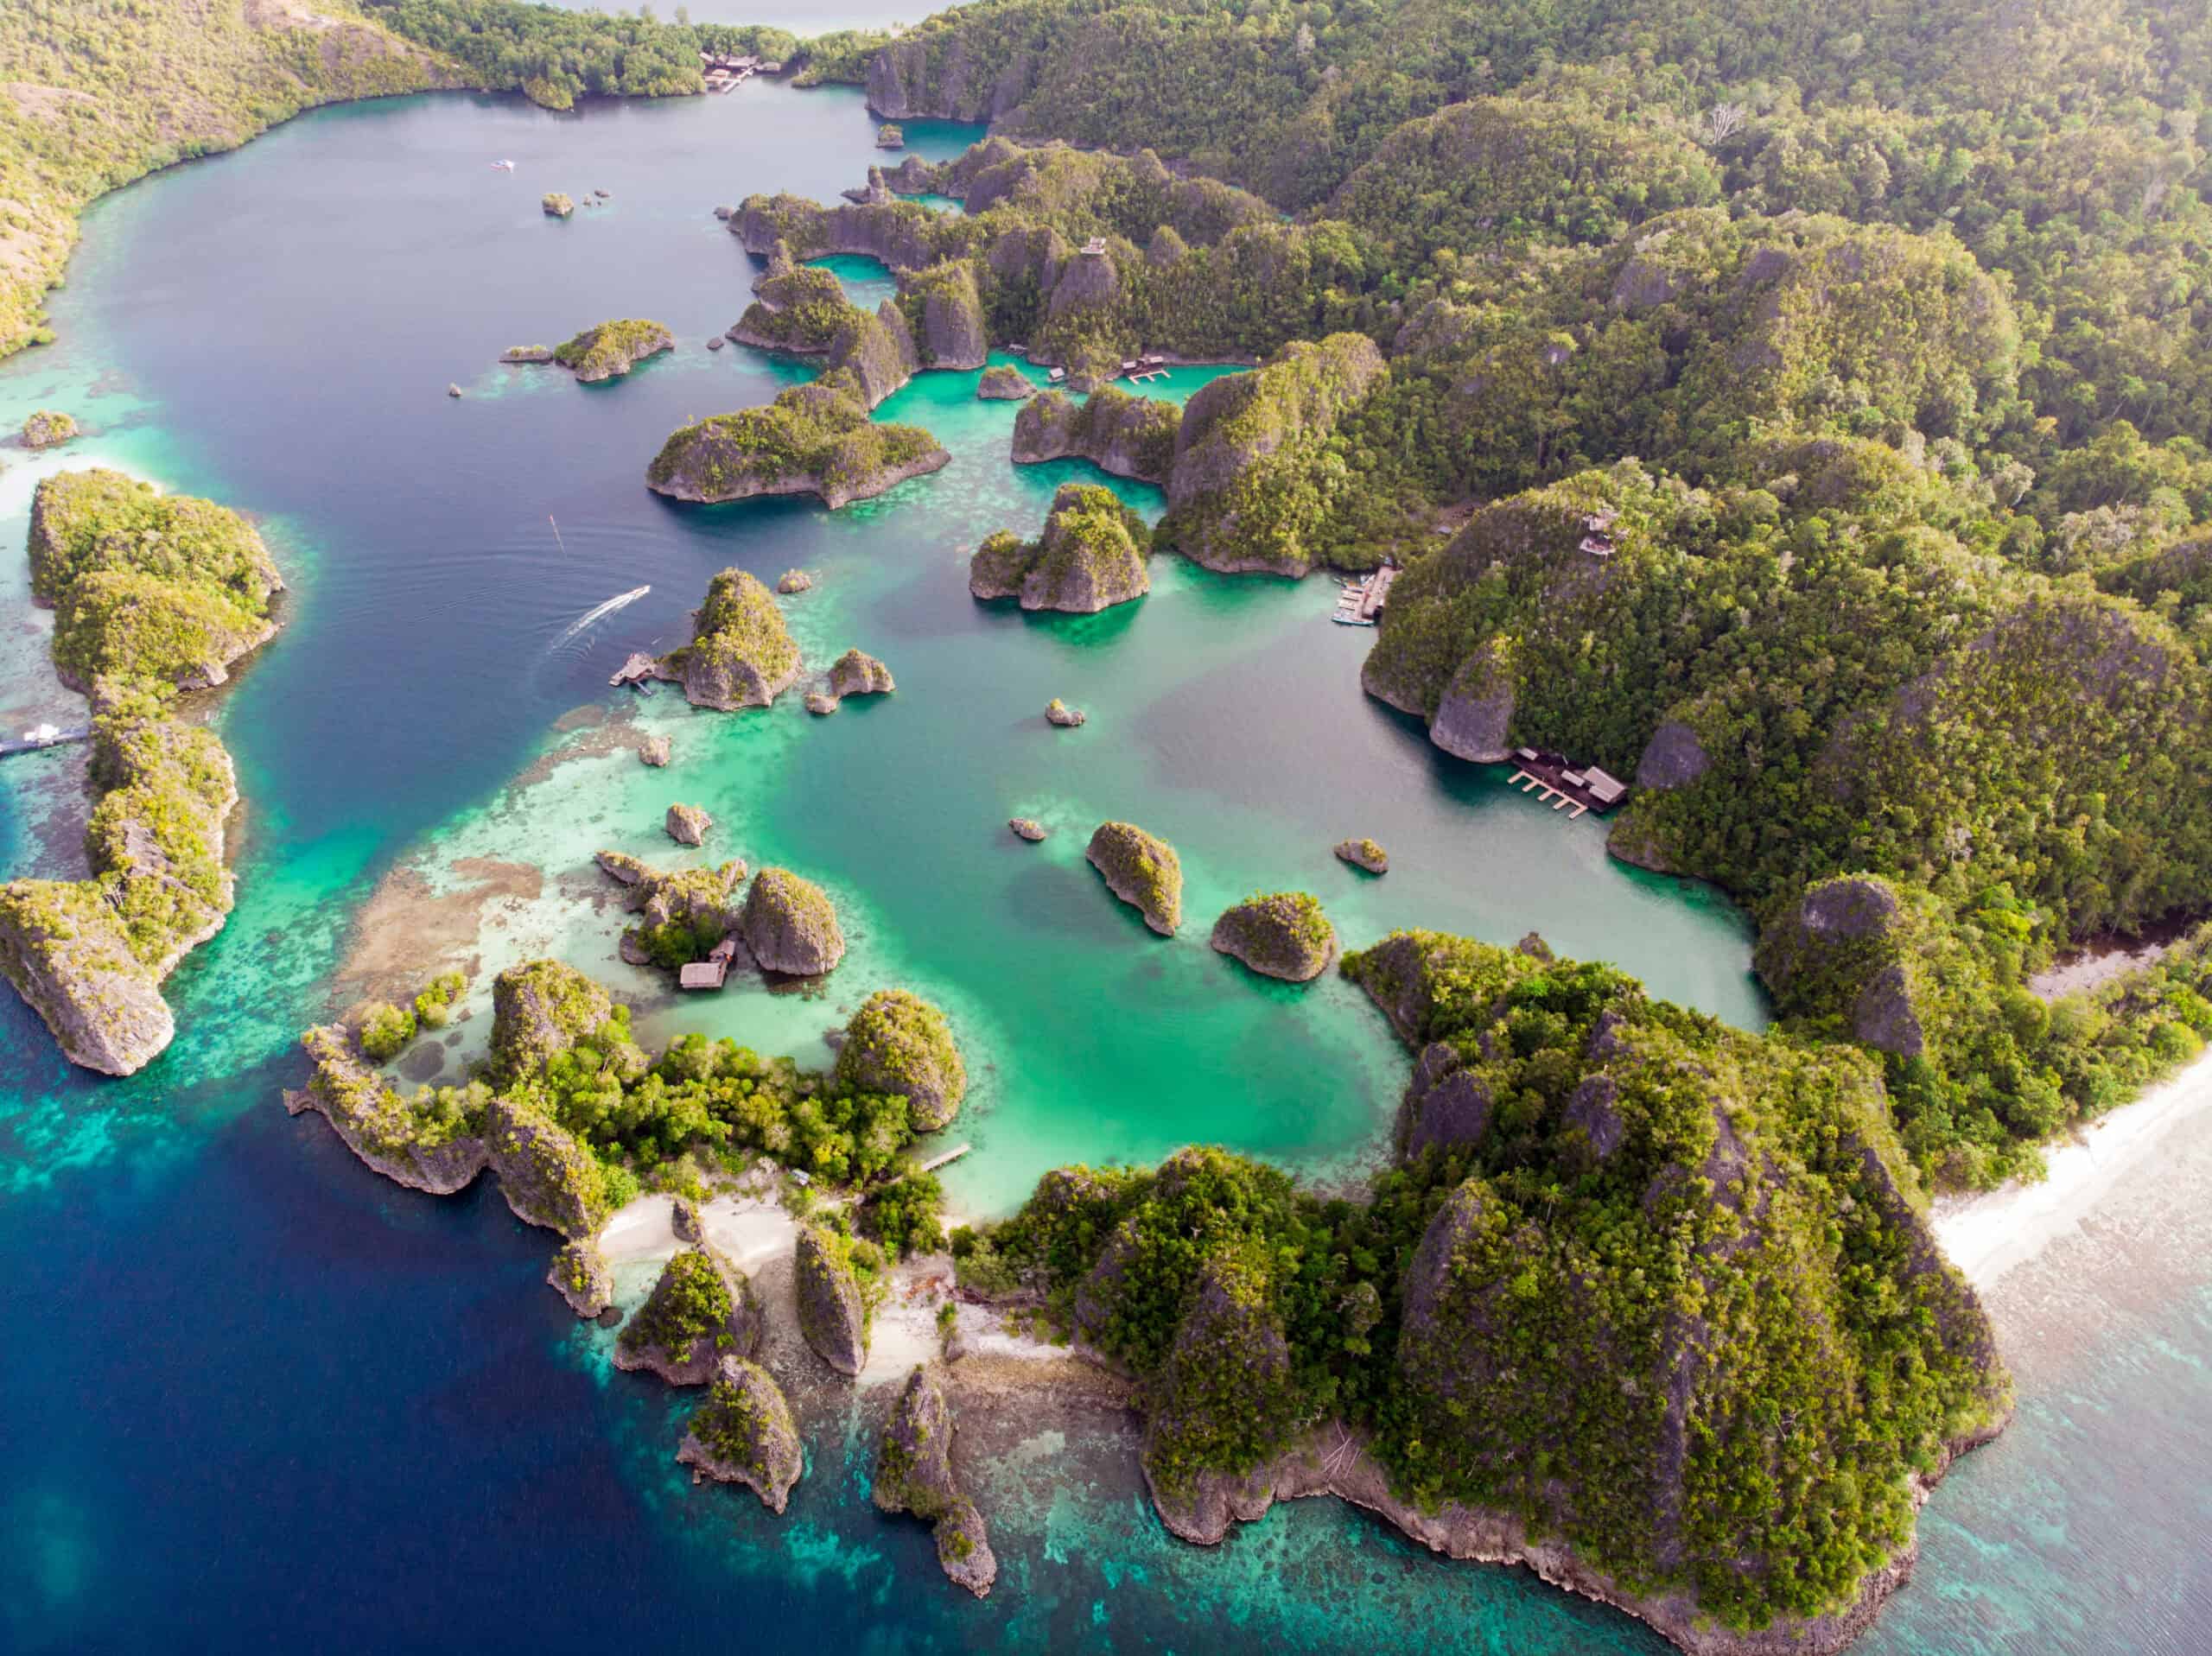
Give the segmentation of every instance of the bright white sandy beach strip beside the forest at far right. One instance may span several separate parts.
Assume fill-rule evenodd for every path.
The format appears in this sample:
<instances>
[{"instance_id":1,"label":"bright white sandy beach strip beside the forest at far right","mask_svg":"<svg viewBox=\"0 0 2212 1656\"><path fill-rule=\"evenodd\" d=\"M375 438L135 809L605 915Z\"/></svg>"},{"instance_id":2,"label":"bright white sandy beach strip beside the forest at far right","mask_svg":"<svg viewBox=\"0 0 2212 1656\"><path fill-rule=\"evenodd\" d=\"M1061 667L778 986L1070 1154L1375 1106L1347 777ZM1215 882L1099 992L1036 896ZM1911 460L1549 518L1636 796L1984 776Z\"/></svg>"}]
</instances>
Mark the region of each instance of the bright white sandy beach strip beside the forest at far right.
<instances>
[{"instance_id":1,"label":"bright white sandy beach strip beside the forest at far right","mask_svg":"<svg viewBox=\"0 0 2212 1656\"><path fill-rule=\"evenodd\" d=\"M2051 1176L1936 1203L1936 1238L1982 1291L2033 1260L2124 1187L2159 1176L2161 1145L2212 1105L2212 1052L2046 1154Z\"/></svg>"}]
</instances>

